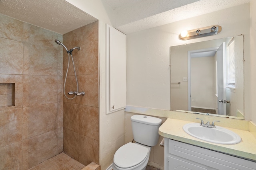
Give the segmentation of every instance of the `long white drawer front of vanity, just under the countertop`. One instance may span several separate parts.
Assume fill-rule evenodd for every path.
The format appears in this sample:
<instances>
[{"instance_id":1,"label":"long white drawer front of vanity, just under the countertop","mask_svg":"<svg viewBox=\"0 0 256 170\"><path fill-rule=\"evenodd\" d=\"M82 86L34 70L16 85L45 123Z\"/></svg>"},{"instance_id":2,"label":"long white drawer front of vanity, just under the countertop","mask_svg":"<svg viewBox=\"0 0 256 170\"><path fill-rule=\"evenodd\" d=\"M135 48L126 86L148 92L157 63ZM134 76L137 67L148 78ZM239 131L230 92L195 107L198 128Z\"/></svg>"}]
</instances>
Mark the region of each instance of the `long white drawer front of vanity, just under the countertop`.
<instances>
[{"instance_id":1,"label":"long white drawer front of vanity, just under the countertop","mask_svg":"<svg viewBox=\"0 0 256 170\"><path fill-rule=\"evenodd\" d=\"M256 162L169 139L168 152L219 170L255 170Z\"/></svg>"}]
</instances>

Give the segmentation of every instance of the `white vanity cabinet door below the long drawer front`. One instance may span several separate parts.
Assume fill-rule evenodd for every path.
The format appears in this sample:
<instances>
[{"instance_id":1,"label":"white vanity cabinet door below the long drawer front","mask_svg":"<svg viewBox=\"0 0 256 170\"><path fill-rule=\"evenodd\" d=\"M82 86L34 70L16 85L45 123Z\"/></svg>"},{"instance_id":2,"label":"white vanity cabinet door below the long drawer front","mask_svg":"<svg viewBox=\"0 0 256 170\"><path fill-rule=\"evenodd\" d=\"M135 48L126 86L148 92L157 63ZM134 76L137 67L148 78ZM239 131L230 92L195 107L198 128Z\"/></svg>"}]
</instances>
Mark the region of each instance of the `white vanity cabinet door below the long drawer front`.
<instances>
[{"instance_id":1,"label":"white vanity cabinet door below the long drawer front","mask_svg":"<svg viewBox=\"0 0 256 170\"><path fill-rule=\"evenodd\" d=\"M209 170L207 167L202 167L200 164L187 162L181 159L176 159L169 156L169 170Z\"/></svg>"}]
</instances>

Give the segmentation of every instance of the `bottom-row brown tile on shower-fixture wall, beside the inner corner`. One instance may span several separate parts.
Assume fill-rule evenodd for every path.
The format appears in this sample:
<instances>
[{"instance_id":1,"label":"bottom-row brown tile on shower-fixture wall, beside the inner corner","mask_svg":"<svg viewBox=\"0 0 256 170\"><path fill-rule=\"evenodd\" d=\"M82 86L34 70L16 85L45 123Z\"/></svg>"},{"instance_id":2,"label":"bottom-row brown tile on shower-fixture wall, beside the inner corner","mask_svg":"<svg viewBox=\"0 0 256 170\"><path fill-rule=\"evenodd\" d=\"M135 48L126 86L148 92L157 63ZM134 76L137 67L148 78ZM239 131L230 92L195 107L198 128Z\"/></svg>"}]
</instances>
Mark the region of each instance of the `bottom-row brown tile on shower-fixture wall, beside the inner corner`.
<instances>
[{"instance_id":1,"label":"bottom-row brown tile on shower-fixture wall, beside the inner corner","mask_svg":"<svg viewBox=\"0 0 256 170\"><path fill-rule=\"evenodd\" d=\"M63 128L63 151L75 160L78 160L78 150L80 150L78 138L78 133Z\"/></svg>"}]
</instances>

